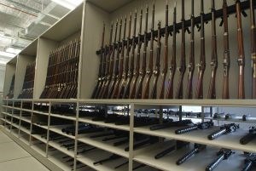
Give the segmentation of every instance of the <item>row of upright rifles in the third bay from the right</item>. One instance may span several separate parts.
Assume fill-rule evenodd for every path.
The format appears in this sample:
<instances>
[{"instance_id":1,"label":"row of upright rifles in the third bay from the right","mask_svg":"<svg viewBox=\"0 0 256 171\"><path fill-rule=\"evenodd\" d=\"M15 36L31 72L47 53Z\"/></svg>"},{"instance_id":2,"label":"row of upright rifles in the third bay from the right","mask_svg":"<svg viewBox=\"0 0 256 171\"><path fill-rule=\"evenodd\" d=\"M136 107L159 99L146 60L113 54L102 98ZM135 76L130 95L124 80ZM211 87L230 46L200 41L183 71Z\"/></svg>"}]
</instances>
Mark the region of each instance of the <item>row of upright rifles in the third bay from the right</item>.
<instances>
[{"instance_id":1,"label":"row of upright rifles in the third bay from the right","mask_svg":"<svg viewBox=\"0 0 256 171\"><path fill-rule=\"evenodd\" d=\"M33 98L35 66L36 66L36 62L32 62L32 64L26 66L24 82L23 82L22 90L18 96L18 99L32 99Z\"/></svg>"}]
</instances>

